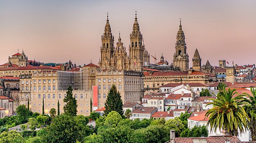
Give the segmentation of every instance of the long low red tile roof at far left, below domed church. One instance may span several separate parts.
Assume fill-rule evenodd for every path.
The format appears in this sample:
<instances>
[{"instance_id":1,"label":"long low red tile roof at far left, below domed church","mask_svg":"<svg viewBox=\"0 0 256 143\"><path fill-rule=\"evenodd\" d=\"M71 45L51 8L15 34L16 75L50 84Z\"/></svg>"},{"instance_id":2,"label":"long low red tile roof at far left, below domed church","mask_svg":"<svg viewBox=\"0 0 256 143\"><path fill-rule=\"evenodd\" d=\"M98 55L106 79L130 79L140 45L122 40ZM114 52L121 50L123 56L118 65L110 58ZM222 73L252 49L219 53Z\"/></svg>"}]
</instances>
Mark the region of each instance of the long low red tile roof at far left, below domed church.
<instances>
[{"instance_id":1,"label":"long low red tile roof at far left, below domed church","mask_svg":"<svg viewBox=\"0 0 256 143\"><path fill-rule=\"evenodd\" d=\"M55 69L59 70L54 66L23 66L23 67L0 67L0 70L36 70L36 69Z\"/></svg>"}]
</instances>

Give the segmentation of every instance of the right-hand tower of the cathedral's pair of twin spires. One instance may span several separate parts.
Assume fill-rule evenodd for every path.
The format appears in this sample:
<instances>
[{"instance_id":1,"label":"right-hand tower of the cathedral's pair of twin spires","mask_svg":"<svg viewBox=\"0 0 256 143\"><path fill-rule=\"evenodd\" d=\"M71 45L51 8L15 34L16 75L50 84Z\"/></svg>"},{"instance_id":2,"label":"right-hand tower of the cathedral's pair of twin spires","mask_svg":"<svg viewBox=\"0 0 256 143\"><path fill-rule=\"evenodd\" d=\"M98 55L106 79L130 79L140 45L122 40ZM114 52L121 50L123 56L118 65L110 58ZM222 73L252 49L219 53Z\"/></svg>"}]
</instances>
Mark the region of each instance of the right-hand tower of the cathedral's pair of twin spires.
<instances>
[{"instance_id":1,"label":"right-hand tower of the cathedral's pair of twin spires","mask_svg":"<svg viewBox=\"0 0 256 143\"><path fill-rule=\"evenodd\" d=\"M142 71L145 50L144 44L142 45L142 39L143 38L140 31L139 23L137 21L136 11L132 33L130 34L131 44L129 45L129 58L131 70Z\"/></svg>"}]
</instances>

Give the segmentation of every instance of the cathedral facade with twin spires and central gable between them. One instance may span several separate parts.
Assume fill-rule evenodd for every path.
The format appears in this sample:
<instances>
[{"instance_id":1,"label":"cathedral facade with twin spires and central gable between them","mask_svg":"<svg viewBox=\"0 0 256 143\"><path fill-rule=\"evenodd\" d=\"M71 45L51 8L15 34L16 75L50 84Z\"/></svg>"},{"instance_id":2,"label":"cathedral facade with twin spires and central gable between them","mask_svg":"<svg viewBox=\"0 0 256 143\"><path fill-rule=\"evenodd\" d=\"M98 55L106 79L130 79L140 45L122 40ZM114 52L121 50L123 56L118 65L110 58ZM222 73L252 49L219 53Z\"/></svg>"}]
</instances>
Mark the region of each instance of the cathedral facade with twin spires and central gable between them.
<instances>
[{"instance_id":1,"label":"cathedral facade with twin spires and central gable between them","mask_svg":"<svg viewBox=\"0 0 256 143\"><path fill-rule=\"evenodd\" d=\"M150 62L150 56L145 50L137 20L137 13L130 34L129 55L122 43L120 32L118 42L114 46L114 35L111 33L108 16L104 33L101 35L100 55L99 66L101 69L142 71L143 66Z\"/></svg>"}]
</instances>

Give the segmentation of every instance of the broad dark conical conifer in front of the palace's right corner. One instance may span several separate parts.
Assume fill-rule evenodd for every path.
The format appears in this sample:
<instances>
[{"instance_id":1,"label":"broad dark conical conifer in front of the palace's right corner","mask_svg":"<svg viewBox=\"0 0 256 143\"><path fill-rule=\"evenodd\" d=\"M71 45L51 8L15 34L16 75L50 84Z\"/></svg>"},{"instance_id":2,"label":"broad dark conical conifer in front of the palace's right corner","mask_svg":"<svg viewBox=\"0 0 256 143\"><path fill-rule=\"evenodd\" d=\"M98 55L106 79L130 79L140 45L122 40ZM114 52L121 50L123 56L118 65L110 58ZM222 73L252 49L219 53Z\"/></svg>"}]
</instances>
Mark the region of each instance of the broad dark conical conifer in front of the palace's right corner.
<instances>
[{"instance_id":1,"label":"broad dark conical conifer in front of the palace's right corner","mask_svg":"<svg viewBox=\"0 0 256 143\"><path fill-rule=\"evenodd\" d=\"M113 84L109 90L108 97L105 102L104 114L108 115L111 111L116 111L121 116L123 116L123 101L119 91L116 90L116 86Z\"/></svg>"}]
</instances>

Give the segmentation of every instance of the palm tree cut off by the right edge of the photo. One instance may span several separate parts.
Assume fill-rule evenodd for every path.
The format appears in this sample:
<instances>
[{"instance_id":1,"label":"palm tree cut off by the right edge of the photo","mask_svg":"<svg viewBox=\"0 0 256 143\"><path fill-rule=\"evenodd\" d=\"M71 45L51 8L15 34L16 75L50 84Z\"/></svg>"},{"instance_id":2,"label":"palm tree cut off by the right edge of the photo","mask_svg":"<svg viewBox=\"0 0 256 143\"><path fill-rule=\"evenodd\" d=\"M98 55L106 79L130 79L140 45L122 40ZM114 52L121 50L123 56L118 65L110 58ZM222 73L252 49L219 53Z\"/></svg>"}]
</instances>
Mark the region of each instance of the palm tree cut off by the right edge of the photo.
<instances>
[{"instance_id":1,"label":"palm tree cut off by the right edge of the photo","mask_svg":"<svg viewBox=\"0 0 256 143\"><path fill-rule=\"evenodd\" d=\"M243 93L249 98L247 101L248 104L244 105L244 109L250 118L247 122L247 127L251 131L252 141L256 141L256 88L251 88L251 93L252 96L247 93Z\"/></svg>"}]
</instances>

